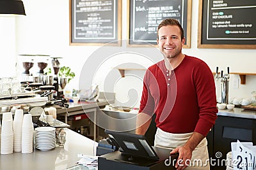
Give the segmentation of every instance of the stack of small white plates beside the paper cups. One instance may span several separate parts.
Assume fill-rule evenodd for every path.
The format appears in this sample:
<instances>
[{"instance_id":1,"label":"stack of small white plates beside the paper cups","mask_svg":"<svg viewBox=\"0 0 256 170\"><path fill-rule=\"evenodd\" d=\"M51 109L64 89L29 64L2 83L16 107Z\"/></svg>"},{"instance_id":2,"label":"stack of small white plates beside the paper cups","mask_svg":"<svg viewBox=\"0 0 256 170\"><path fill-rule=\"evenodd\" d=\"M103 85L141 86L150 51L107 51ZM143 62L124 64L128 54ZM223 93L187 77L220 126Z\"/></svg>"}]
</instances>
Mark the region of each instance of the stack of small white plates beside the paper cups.
<instances>
[{"instance_id":1,"label":"stack of small white plates beside the paper cups","mask_svg":"<svg viewBox=\"0 0 256 170\"><path fill-rule=\"evenodd\" d=\"M42 151L56 147L55 127L36 127L35 148Z\"/></svg>"}]
</instances>

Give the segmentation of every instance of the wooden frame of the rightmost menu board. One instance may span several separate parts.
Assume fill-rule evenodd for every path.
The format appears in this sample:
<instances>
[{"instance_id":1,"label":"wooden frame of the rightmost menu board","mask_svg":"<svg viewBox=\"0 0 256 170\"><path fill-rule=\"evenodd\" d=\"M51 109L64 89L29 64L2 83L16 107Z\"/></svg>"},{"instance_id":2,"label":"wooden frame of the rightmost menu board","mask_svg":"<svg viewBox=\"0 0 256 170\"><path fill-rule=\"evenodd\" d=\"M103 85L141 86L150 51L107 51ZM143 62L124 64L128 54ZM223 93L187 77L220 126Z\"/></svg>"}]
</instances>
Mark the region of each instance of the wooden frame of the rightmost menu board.
<instances>
[{"instance_id":1,"label":"wooden frame of the rightmost menu board","mask_svg":"<svg viewBox=\"0 0 256 170\"><path fill-rule=\"evenodd\" d=\"M212 43L202 43L202 38L205 38L202 36L202 32L206 27L203 27L205 25L204 20L203 20L203 14L204 11L207 9L204 9L204 4L208 0L199 0L199 12L198 12L198 41L197 41L197 47L198 48L229 48L229 49L256 49L256 44L226 44L226 43L221 43L225 42L225 40L221 39L220 43L218 44L212 44ZM237 41L237 40L234 40ZM255 40L256 42L256 40Z\"/></svg>"}]
</instances>

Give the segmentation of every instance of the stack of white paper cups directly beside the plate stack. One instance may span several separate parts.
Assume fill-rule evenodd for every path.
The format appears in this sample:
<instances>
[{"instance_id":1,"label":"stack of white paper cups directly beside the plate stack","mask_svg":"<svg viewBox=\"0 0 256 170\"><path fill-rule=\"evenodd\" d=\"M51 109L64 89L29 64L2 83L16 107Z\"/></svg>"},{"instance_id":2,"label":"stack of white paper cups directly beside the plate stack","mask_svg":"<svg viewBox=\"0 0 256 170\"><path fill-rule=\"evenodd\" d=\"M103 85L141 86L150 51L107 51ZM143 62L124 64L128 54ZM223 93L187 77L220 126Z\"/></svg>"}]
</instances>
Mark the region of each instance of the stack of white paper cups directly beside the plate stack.
<instances>
[{"instance_id":1,"label":"stack of white paper cups directly beside the plate stack","mask_svg":"<svg viewBox=\"0 0 256 170\"><path fill-rule=\"evenodd\" d=\"M33 152L34 126L31 114L25 114L22 122L21 152Z\"/></svg>"}]
</instances>

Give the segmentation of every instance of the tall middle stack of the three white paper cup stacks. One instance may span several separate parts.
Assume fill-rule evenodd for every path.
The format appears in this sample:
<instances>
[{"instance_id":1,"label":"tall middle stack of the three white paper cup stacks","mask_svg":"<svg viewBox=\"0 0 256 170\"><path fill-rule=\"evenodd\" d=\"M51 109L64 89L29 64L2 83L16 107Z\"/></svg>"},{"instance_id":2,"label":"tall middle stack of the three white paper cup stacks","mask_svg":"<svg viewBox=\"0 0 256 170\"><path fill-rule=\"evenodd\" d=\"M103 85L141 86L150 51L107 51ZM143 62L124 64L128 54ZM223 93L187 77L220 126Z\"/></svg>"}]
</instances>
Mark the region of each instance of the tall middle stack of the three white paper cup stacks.
<instances>
[{"instance_id":1,"label":"tall middle stack of the three white paper cup stacks","mask_svg":"<svg viewBox=\"0 0 256 170\"><path fill-rule=\"evenodd\" d=\"M21 109L15 110L15 114L13 118L14 152L21 152L22 121L23 121L23 110Z\"/></svg>"}]
</instances>

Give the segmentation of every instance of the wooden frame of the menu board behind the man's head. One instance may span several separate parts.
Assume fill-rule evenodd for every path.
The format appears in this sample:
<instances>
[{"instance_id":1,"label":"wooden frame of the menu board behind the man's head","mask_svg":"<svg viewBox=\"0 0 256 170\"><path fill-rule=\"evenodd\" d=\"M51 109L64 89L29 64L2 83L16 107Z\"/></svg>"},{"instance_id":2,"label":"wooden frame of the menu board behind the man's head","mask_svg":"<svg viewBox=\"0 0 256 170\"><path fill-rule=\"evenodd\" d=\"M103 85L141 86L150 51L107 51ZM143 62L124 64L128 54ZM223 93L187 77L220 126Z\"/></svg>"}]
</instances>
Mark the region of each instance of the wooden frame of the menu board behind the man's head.
<instances>
[{"instance_id":1,"label":"wooden frame of the menu board behind the man's head","mask_svg":"<svg viewBox=\"0 0 256 170\"><path fill-rule=\"evenodd\" d=\"M141 44L134 44L134 43L130 43L129 39L131 37L130 32L131 32L131 20L133 20L133 18L131 18L130 16L130 11L133 11L133 9L131 9L131 3L133 3L133 1L135 0L128 0L127 1L127 46L129 47L152 47L155 46L157 47L158 45L151 45L149 43L141 43ZM159 0L160 1L160 0ZM187 6L187 16L186 16L186 43L183 46L183 48L191 48L191 15L192 15L192 0L184 0L184 1L188 1L188 6ZM170 1L170 3L172 3ZM184 30L185 31L185 30ZM185 35L184 35L185 36ZM157 36L156 36L157 39Z\"/></svg>"}]
</instances>

